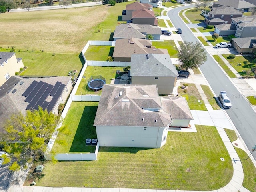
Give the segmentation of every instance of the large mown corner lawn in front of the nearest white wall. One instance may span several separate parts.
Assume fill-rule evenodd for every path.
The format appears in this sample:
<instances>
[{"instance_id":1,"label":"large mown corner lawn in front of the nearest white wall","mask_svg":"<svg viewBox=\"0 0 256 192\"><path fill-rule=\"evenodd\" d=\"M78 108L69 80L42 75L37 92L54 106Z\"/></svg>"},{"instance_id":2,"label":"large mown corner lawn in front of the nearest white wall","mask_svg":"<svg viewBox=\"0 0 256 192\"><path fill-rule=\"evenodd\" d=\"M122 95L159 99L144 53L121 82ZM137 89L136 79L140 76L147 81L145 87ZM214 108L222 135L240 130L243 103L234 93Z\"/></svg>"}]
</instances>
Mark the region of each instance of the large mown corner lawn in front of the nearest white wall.
<instances>
[{"instance_id":1,"label":"large mown corner lawn in front of the nearest white wall","mask_svg":"<svg viewBox=\"0 0 256 192\"><path fill-rule=\"evenodd\" d=\"M230 156L215 127L196 129L197 133L169 132L166 144L158 149L100 147L96 161L45 162L36 185L219 189L232 178Z\"/></svg>"}]
</instances>

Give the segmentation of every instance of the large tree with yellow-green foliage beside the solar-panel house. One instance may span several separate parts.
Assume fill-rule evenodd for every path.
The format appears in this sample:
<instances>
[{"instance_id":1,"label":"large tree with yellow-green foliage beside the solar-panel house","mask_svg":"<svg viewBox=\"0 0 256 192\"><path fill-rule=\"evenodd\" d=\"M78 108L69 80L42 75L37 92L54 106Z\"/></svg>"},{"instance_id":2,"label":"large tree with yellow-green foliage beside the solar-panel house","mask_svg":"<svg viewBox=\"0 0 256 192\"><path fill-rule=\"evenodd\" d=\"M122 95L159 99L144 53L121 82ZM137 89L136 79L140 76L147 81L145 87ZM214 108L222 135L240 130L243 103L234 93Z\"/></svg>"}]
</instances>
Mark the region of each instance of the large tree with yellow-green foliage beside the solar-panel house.
<instances>
[{"instance_id":1,"label":"large tree with yellow-green foliage beside the solar-panel house","mask_svg":"<svg viewBox=\"0 0 256 192\"><path fill-rule=\"evenodd\" d=\"M21 112L13 114L4 124L5 134L1 136L3 150L13 154L14 161L10 169L15 171L26 163L39 160L46 151L46 146L60 120L60 116L38 110L27 110L26 116ZM64 132L65 128L58 131Z\"/></svg>"}]
</instances>

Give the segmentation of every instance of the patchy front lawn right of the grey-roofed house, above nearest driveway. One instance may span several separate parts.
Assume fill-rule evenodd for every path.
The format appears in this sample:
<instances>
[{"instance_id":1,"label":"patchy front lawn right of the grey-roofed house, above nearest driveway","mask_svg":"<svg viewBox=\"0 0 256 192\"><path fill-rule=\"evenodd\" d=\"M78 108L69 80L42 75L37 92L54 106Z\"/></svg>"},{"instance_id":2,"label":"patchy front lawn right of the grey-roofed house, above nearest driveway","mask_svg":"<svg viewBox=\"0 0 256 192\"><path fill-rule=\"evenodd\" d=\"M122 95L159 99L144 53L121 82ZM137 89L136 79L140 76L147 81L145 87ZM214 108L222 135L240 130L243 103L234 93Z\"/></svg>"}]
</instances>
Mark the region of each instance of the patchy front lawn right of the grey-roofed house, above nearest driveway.
<instances>
[{"instance_id":1,"label":"patchy front lawn right of the grey-roofed house, above nearest driveway","mask_svg":"<svg viewBox=\"0 0 256 192\"><path fill-rule=\"evenodd\" d=\"M195 84L188 83L186 89L179 87L178 94L182 97L186 97L190 110L207 111L204 101L202 100ZM200 103L198 100L200 100Z\"/></svg>"}]
</instances>

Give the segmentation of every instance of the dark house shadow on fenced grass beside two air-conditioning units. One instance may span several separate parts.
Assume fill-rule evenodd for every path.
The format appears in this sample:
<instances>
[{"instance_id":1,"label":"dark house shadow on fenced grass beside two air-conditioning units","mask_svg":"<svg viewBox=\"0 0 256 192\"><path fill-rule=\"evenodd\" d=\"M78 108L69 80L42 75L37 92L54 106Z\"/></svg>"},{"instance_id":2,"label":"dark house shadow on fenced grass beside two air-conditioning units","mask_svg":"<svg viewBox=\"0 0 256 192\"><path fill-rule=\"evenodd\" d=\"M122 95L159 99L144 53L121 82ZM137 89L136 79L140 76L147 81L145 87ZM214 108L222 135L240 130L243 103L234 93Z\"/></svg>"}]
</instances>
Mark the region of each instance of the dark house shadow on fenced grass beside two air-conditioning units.
<instances>
[{"instance_id":1,"label":"dark house shadow on fenced grass beside two air-conditioning units","mask_svg":"<svg viewBox=\"0 0 256 192\"><path fill-rule=\"evenodd\" d=\"M86 146L87 138L97 138L96 128L93 126L98 106L85 106L76 134L74 136L70 152L95 152L95 146Z\"/></svg>"}]
</instances>

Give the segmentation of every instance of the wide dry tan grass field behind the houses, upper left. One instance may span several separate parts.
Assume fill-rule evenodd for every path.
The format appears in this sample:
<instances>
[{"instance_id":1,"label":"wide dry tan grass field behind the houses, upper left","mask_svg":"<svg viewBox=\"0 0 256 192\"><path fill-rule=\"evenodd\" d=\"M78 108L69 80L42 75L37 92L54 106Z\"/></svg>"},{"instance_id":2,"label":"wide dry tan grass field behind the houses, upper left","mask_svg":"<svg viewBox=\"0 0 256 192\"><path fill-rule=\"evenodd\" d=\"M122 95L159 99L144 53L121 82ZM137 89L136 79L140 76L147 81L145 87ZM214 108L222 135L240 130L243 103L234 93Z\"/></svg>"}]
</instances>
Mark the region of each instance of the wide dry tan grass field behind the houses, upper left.
<instances>
[{"instance_id":1,"label":"wide dry tan grass field behind the houses, upper left","mask_svg":"<svg viewBox=\"0 0 256 192\"><path fill-rule=\"evenodd\" d=\"M50 53L79 53L88 40L109 40L126 5L3 13L0 46ZM119 17L120 16L120 17ZM100 32L99 32L100 31ZM25 64L26 65L26 64Z\"/></svg>"}]
</instances>

